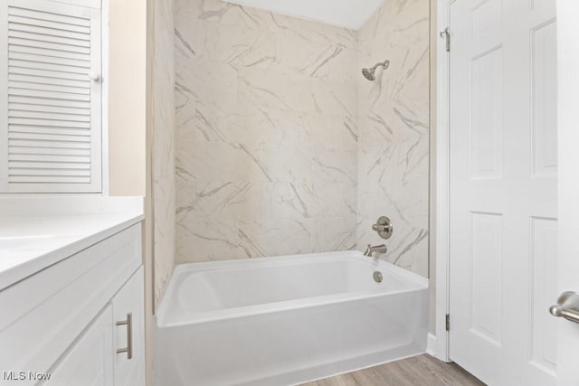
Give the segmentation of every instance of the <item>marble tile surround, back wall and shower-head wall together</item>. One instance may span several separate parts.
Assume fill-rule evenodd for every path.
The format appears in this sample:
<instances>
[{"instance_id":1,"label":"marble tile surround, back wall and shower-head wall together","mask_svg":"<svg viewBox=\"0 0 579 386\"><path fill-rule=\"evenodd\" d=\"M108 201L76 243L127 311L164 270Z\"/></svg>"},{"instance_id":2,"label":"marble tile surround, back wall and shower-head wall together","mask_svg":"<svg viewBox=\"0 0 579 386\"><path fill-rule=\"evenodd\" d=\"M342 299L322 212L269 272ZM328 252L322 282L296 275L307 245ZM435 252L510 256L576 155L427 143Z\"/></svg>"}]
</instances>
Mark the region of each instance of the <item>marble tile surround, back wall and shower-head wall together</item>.
<instances>
[{"instance_id":1,"label":"marble tile surround, back wall and shower-head wall together","mask_svg":"<svg viewBox=\"0 0 579 386\"><path fill-rule=\"evenodd\" d=\"M361 248L385 214L384 258L425 276L428 2L389 0L359 32L174 6L176 263ZM394 71L364 80L384 55Z\"/></svg>"}]
</instances>

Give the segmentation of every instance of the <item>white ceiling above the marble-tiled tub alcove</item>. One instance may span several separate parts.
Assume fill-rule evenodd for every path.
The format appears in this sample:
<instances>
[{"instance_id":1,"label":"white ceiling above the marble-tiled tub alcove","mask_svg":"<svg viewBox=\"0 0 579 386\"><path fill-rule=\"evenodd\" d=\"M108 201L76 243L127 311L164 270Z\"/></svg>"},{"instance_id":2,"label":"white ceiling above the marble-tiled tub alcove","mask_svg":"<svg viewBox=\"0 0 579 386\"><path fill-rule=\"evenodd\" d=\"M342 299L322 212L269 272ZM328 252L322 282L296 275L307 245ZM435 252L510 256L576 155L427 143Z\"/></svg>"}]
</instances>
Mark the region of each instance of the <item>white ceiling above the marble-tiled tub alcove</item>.
<instances>
[{"instance_id":1,"label":"white ceiling above the marble-tiled tub alcove","mask_svg":"<svg viewBox=\"0 0 579 386\"><path fill-rule=\"evenodd\" d=\"M384 0L224 0L276 14L359 30Z\"/></svg>"}]
</instances>

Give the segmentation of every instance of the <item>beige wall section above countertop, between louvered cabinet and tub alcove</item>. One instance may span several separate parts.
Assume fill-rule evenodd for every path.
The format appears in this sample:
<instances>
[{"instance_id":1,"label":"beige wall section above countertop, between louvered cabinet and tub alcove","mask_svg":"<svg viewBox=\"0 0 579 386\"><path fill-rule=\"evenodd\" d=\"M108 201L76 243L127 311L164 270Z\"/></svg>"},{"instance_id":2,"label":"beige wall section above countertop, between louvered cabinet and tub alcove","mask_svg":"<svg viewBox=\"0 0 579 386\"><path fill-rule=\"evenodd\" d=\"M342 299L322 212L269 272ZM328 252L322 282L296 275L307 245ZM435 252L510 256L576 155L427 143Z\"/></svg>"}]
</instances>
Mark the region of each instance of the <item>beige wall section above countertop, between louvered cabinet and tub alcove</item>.
<instances>
[{"instance_id":1,"label":"beige wall section above countertop, between louvered cabinet and tub alcove","mask_svg":"<svg viewBox=\"0 0 579 386\"><path fill-rule=\"evenodd\" d=\"M109 192L146 192L147 4L109 0Z\"/></svg>"}]
</instances>

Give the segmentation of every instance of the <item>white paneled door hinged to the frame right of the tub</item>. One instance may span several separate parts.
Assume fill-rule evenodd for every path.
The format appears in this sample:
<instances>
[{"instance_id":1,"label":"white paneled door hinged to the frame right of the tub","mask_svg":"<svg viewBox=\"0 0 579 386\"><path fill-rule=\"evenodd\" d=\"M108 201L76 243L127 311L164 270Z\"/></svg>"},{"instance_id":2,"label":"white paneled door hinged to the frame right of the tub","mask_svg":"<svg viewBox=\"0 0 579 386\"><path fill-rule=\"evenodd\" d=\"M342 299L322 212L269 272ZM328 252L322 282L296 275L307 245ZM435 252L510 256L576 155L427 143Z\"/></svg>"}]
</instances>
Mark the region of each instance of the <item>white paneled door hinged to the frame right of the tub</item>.
<instances>
[{"instance_id":1,"label":"white paneled door hinged to the frame right of the tub","mask_svg":"<svg viewBox=\"0 0 579 386\"><path fill-rule=\"evenodd\" d=\"M555 0L450 6L451 360L556 382Z\"/></svg>"}]
</instances>

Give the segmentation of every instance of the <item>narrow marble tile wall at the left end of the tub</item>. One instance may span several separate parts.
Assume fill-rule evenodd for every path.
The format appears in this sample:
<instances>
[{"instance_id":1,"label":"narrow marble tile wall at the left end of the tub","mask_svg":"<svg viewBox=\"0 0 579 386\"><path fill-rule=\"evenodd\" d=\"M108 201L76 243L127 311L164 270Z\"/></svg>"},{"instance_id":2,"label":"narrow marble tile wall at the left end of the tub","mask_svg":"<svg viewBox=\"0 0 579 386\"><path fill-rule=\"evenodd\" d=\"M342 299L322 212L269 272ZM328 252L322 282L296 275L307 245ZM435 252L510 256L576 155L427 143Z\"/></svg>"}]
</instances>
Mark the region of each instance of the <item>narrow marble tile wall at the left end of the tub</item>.
<instances>
[{"instance_id":1,"label":"narrow marble tile wall at the left end of the tub","mask_svg":"<svg viewBox=\"0 0 579 386\"><path fill-rule=\"evenodd\" d=\"M155 0L152 70L155 303L175 265L175 54L173 0Z\"/></svg>"}]
</instances>

